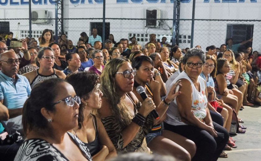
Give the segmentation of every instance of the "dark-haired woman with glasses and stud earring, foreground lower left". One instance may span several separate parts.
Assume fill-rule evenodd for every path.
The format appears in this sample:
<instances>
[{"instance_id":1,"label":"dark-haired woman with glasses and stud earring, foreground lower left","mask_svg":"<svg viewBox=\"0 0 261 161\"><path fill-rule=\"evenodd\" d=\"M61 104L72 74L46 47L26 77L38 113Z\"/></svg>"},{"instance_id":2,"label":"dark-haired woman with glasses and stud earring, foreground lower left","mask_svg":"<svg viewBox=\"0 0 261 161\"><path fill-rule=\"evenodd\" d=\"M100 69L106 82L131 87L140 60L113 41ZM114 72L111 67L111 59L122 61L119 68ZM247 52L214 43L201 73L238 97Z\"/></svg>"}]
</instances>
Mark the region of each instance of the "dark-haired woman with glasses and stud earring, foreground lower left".
<instances>
[{"instance_id":1,"label":"dark-haired woman with glasses and stud earring, foreground lower left","mask_svg":"<svg viewBox=\"0 0 261 161\"><path fill-rule=\"evenodd\" d=\"M92 160L89 149L68 132L78 124L81 99L62 79L49 79L32 89L23 107L26 133L15 161Z\"/></svg>"}]
</instances>

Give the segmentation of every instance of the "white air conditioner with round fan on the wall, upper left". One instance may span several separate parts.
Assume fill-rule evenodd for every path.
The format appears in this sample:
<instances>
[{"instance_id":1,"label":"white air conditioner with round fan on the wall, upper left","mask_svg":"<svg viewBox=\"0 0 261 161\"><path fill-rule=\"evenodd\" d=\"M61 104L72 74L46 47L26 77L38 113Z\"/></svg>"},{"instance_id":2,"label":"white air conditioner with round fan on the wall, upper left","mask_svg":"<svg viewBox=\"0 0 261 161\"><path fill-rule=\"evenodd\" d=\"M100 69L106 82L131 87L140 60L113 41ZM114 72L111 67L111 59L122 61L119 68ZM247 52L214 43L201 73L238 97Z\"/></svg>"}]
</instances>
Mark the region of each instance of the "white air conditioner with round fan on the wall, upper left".
<instances>
[{"instance_id":1,"label":"white air conditioner with round fan on the wall, upper left","mask_svg":"<svg viewBox=\"0 0 261 161\"><path fill-rule=\"evenodd\" d=\"M32 23L34 24L48 24L48 11L47 10L33 10L31 12ZM43 20L45 19L45 20Z\"/></svg>"}]
</instances>

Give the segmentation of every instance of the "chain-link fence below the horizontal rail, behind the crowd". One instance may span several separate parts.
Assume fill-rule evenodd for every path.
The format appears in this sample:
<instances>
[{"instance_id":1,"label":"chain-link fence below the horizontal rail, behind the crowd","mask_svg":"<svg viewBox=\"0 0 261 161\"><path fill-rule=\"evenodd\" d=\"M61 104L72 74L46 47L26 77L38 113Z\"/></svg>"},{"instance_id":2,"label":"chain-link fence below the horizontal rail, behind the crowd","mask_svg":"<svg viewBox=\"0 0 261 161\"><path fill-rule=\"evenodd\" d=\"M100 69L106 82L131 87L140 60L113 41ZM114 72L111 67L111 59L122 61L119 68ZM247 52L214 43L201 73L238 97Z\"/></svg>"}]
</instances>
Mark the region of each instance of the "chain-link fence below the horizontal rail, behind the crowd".
<instances>
[{"instance_id":1,"label":"chain-link fence below the horizontal rail, behind the crowd","mask_svg":"<svg viewBox=\"0 0 261 161\"><path fill-rule=\"evenodd\" d=\"M45 24L32 23L31 37L38 40L45 28L53 30L55 35L55 19L45 20ZM178 21L178 20L177 20ZM14 33L14 38L21 39L30 37L29 19L0 19L0 22L8 22L10 31ZM98 35L102 36L103 19L64 19L64 32L67 39L72 40L76 45L81 32L91 35L91 28L98 29ZM191 40L193 46L200 45L202 49L215 45L220 47L226 43L227 38L233 38L234 43L240 43L253 37L253 42L245 44L245 47L252 46L254 50L261 50L259 45L261 35L261 20L195 20L194 37L191 37L192 20L180 19L179 26L179 46L190 48ZM158 19L156 27L146 27L146 19L105 19L105 39L109 34L114 35L114 40L118 42L121 38L126 38L131 43L131 37L135 36L138 44L144 46L149 41L151 33L156 34L157 41L162 37L167 37L167 42L172 44L171 19ZM61 35L59 31L57 33ZM2 35L3 37L3 35ZM244 47L244 46L243 46Z\"/></svg>"}]
</instances>

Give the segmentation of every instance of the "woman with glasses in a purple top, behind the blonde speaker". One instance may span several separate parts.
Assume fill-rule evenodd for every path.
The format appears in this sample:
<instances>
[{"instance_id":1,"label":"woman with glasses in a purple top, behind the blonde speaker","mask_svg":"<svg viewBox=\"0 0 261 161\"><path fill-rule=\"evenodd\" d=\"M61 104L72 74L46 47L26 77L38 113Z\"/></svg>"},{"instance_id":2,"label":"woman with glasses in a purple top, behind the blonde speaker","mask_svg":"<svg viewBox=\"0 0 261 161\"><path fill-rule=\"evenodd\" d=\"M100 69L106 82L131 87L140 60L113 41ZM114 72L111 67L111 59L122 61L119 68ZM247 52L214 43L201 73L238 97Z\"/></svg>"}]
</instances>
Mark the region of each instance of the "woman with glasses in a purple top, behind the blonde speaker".
<instances>
[{"instance_id":1,"label":"woman with glasses in a purple top, behind the blonde speaker","mask_svg":"<svg viewBox=\"0 0 261 161\"><path fill-rule=\"evenodd\" d=\"M92 58L94 60L94 65L89 68L89 72L94 72L100 76L104 69L103 52L101 50L94 50Z\"/></svg>"}]
</instances>

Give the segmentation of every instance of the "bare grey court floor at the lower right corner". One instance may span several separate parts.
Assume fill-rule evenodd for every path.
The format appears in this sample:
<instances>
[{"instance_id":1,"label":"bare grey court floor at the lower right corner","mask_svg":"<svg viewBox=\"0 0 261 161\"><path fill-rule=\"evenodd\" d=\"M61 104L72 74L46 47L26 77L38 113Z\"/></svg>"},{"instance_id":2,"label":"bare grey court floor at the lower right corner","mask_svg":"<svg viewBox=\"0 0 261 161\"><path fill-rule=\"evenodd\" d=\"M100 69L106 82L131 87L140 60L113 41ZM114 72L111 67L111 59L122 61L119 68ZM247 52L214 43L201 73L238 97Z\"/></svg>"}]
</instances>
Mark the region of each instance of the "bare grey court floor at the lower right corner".
<instances>
[{"instance_id":1,"label":"bare grey court floor at the lower right corner","mask_svg":"<svg viewBox=\"0 0 261 161\"><path fill-rule=\"evenodd\" d=\"M232 137L236 140L237 148L225 151L228 158L219 158L218 161L261 161L261 107L245 106L239 111L239 117L247 127L245 134Z\"/></svg>"}]
</instances>

